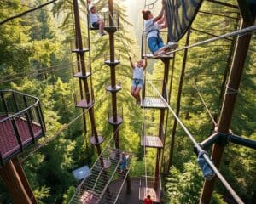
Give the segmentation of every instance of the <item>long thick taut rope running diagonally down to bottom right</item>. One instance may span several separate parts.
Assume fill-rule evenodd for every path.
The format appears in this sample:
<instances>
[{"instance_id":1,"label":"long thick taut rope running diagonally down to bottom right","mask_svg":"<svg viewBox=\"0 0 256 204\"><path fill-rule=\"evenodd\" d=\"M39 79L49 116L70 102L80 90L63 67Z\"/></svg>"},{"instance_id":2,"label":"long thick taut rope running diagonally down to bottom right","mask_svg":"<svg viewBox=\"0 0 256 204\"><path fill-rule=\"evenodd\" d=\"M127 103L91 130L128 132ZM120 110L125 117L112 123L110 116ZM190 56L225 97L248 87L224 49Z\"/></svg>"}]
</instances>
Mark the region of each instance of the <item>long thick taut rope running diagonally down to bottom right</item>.
<instances>
[{"instance_id":1,"label":"long thick taut rope running diagonally down to bottom right","mask_svg":"<svg viewBox=\"0 0 256 204\"><path fill-rule=\"evenodd\" d=\"M150 82L151 86L154 88L155 92L157 94L159 94L160 98L163 100L163 102L166 104L166 106L168 107L169 111L172 112L172 115L176 118L177 122L180 124L181 127L183 127L184 132L188 135L189 139L191 140L191 142L195 145L195 148L198 150L199 153L202 153L205 160L207 161L207 163L209 164L209 166L212 168L212 171L216 174L216 176L219 178L219 180L221 181L222 184L224 184L224 187L230 192L230 195L233 196L233 198L236 200L237 203L239 204L244 204L243 201L241 201L241 198L236 194L235 190L232 189L232 187L230 186L230 184L225 180L225 178L222 176L221 173L218 172L218 169L215 167L215 165L212 163L211 159L209 158L209 156L207 156L206 151L202 150L201 146L195 141L195 138L193 137L193 135L191 133L189 133L189 130L187 129L187 127L184 126L183 122L179 119L179 117L175 114L175 111L172 110L171 106L167 103L166 99L164 99L164 97L162 97L162 95L160 94L160 92L154 87L154 84L148 80L148 82Z\"/></svg>"}]
</instances>

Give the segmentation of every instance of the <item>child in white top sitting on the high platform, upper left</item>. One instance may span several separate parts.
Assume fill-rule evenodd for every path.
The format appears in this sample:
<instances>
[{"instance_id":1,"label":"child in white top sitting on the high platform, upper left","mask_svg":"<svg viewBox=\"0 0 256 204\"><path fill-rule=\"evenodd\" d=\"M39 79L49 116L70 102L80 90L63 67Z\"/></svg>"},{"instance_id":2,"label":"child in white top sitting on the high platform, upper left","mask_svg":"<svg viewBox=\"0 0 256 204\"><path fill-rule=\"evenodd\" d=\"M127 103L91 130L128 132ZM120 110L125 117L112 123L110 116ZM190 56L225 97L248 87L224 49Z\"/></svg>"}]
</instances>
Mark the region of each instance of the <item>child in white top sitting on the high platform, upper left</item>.
<instances>
[{"instance_id":1,"label":"child in white top sitting on the high platform, upper left","mask_svg":"<svg viewBox=\"0 0 256 204\"><path fill-rule=\"evenodd\" d=\"M104 21L100 18L99 14L96 13L96 6L90 5L89 7L90 12L90 24L93 28L99 29L99 34L101 36L107 35L106 32L104 32Z\"/></svg>"}]
</instances>

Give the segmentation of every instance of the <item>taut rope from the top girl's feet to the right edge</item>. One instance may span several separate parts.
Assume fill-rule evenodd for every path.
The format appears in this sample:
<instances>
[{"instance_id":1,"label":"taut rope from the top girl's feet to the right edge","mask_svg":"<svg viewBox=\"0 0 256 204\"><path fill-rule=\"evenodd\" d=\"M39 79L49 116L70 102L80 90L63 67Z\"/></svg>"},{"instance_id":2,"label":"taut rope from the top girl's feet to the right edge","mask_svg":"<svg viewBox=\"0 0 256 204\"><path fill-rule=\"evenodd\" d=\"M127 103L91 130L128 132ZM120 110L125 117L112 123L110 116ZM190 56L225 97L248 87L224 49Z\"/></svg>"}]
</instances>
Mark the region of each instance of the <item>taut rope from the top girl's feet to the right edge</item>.
<instances>
[{"instance_id":1,"label":"taut rope from the top girl's feet to the right edge","mask_svg":"<svg viewBox=\"0 0 256 204\"><path fill-rule=\"evenodd\" d=\"M166 52L165 54L160 54L158 56L154 56L153 58L159 58L161 55L173 54L173 53L179 52L179 51L187 49L187 48L194 48L196 46L199 46L199 45L202 45L202 44L206 44L208 42L214 42L214 41L217 41L219 39L223 39L225 37L232 37L232 36L236 36L236 35L239 35L239 34L246 34L246 33L252 32L252 31L256 31L256 26L250 26L250 27L238 30L238 31L232 31L232 32L229 32L227 34L224 34L224 35L221 35L221 36L218 36L218 37L212 37L212 38L207 39L205 41L195 42L194 44L191 44L191 45L188 45L188 46L184 46L183 48L177 48L175 50Z\"/></svg>"}]
</instances>

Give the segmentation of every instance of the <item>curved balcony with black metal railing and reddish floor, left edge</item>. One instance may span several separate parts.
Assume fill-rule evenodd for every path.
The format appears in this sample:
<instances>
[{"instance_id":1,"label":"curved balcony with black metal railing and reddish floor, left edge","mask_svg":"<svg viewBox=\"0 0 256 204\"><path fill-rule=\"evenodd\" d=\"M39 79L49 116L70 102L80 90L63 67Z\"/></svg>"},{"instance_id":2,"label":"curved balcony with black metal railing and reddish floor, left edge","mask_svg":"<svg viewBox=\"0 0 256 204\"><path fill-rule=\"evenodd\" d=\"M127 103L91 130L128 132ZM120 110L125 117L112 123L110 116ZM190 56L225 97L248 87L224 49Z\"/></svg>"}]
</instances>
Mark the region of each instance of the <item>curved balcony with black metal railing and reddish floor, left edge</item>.
<instances>
[{"instance_id":1,"label":"curved balcony with black metal railing and reddish floor, left edge","mask_svg":"<svg viewBox=\"0 0 256 204\"><path fill-rule=\"evenodd\" d=\"M44 136L39 99L13 90L0 91L0 161L4 165Z\"/></svg>"}]
</instances>

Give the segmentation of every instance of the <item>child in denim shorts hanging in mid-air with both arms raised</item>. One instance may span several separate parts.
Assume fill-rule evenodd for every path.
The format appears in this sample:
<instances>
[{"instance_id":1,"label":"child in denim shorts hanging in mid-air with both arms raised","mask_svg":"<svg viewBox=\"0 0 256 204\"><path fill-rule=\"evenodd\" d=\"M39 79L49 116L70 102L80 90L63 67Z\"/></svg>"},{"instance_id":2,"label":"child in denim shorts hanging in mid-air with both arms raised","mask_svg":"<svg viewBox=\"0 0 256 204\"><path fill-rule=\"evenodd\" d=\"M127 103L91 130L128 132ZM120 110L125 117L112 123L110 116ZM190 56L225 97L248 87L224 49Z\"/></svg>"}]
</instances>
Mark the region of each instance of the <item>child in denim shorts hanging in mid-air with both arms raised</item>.
<instances>
[{"instance_id":1,"label":"child in denim shorts hanging in mid-air with both arms raised","mask_svg":"<svg viewBox=\"0 0 256 204\"><path fill-rule=\"evenodd\" d=\"M141 104L140 90L143 88L143 71L147 66L147 59L144 61L142 59L137 60L136 65L134 65L130 59L131 68L133 71L133 77L131 82L131 95L136 99L137 105Z\"/></svg>"}]
</instances>

